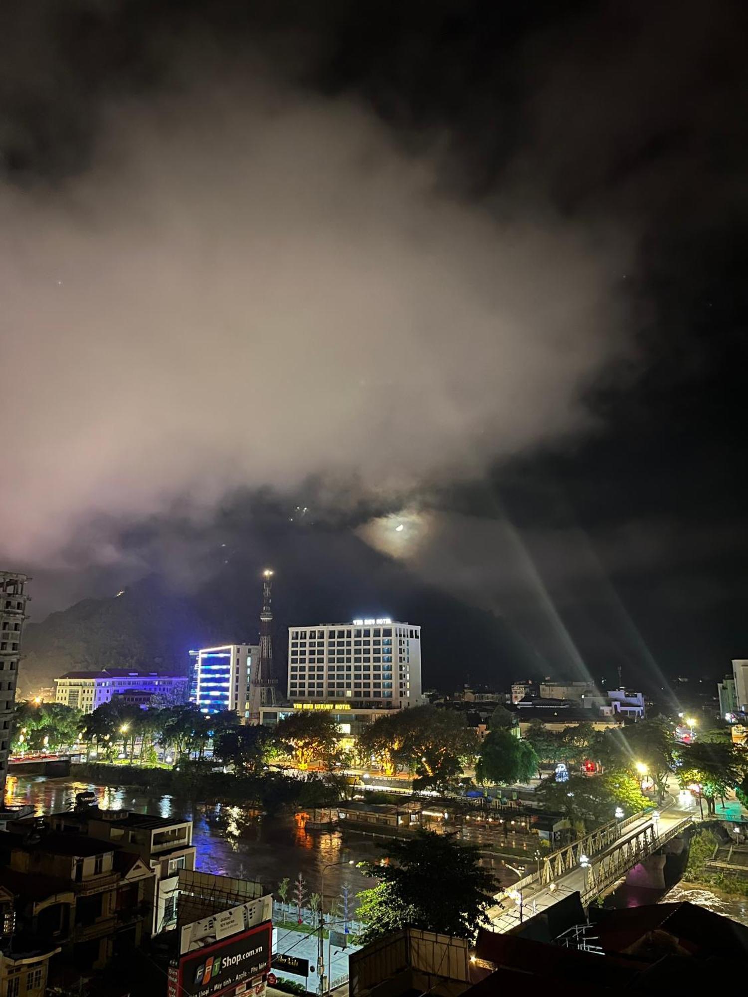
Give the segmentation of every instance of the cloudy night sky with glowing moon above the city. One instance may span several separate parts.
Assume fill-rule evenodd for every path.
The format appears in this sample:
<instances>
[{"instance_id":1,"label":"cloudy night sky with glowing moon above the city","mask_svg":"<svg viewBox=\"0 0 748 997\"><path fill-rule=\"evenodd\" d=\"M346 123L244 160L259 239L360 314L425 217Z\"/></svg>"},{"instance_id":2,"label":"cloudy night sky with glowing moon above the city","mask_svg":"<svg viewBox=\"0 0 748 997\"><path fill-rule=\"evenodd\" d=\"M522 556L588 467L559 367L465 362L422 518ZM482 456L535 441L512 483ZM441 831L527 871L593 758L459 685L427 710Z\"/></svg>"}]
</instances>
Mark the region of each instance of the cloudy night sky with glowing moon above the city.
<instances>
[{"instance_id":1,"label":"cloudy night sky with glowing moon above the city","mask_svg":"<svg viewBox=\"0 0 748 997\"><path fill-rule=\"evenodd\" d=\"M152 573L253 604L269 558L294 622L389 586L427 651L445 597L479 612L439 681L745 657L747 22L0 13L0 558L35 619Z\"/></svg>"}]
</instances>

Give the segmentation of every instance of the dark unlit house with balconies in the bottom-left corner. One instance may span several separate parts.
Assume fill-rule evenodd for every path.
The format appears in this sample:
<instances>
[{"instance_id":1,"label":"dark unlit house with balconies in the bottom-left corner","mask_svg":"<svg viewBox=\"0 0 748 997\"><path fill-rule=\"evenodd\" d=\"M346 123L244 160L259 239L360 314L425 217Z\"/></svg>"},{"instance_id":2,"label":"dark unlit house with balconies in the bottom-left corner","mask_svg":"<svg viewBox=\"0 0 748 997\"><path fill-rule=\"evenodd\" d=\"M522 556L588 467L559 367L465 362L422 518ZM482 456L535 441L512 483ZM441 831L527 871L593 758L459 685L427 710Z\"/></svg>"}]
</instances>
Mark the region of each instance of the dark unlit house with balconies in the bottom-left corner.
<instances>
[{"instance_id":1,"label":"dark unlit house with balconies in the bottom-left corner","mask_svg":"<svg viewBox=\"0 0 748 997\"><path fill-rule=\"evenodd\" d=\"M82 971L140 945L153 879L139 855L106 841L38 825L0 832L0 887L18 930Z\"/></svg>"}]
</instances>

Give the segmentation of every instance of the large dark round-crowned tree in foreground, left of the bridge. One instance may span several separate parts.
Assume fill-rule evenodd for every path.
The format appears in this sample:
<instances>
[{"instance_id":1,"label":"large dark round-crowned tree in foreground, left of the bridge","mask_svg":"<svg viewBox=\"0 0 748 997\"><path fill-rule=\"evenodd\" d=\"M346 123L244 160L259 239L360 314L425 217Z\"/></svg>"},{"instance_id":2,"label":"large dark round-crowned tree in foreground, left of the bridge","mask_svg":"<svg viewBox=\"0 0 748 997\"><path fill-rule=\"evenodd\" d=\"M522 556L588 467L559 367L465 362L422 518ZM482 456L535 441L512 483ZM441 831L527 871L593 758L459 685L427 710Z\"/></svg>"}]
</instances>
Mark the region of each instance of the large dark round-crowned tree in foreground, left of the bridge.
<instances>
[{"instance_id":1,"label":"large dark round-crowned tree in foreground, left of the bridge","mask_svg":"<svg viewBox=\"0 0 748 997\"><path fill-rule=\"evenodd\" d=\"M407 925L471 938L487 922L495 884L477 846L459 844L455 834L418 831L382 847L389 863L364 866L380 882L358 894L364 944Z\"/></svg>"}]
</instances>

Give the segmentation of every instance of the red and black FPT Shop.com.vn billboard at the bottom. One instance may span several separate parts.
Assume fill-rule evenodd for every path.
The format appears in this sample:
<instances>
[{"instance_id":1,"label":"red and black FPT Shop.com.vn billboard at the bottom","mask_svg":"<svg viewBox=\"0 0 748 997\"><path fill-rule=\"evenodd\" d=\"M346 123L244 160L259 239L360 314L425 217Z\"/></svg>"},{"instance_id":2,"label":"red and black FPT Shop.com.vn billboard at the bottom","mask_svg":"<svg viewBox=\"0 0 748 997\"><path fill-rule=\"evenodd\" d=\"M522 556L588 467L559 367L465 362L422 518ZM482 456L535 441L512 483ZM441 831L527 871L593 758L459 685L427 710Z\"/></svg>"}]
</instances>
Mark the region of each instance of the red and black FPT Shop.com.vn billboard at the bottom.
<instances>
[{"instance_id":1,"label":"red and black FPT Shop.com.vn billboard at the bottom","mask_svg":"<svg viewBox=\"0 0 748 997\"><path fill-rule=\"evenodd\" d=\"M218 997L270 966L270 922L216 941L180 958L177 986L170 979L170 997Z\"/></svg>"}]
</instances>

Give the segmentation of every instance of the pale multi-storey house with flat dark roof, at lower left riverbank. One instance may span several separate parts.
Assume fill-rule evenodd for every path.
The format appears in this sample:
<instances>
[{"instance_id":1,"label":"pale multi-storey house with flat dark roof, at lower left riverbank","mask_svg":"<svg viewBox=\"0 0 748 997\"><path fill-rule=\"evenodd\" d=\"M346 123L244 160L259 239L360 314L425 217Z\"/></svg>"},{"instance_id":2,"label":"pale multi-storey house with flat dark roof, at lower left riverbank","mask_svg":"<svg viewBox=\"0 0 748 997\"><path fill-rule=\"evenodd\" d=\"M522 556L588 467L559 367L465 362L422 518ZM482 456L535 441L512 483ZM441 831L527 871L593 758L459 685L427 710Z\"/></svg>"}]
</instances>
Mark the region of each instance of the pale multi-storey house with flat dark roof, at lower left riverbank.
<instances>
[{"instance_id":1,"label":"pale multi-storey house with flat dark roof, at lower left riverbank","mask_svg":"<svg viewBox=\"0 0 748 997\"><path fill-rule=\"evenodd\" d=\"M53 814L49 821L57 831L111 841L123 851L139 855L153 872L147 887L150 932L159 934L177 926L179 872L194 868L191 821L86 806Z\"/></svg>"}]
</instances>

